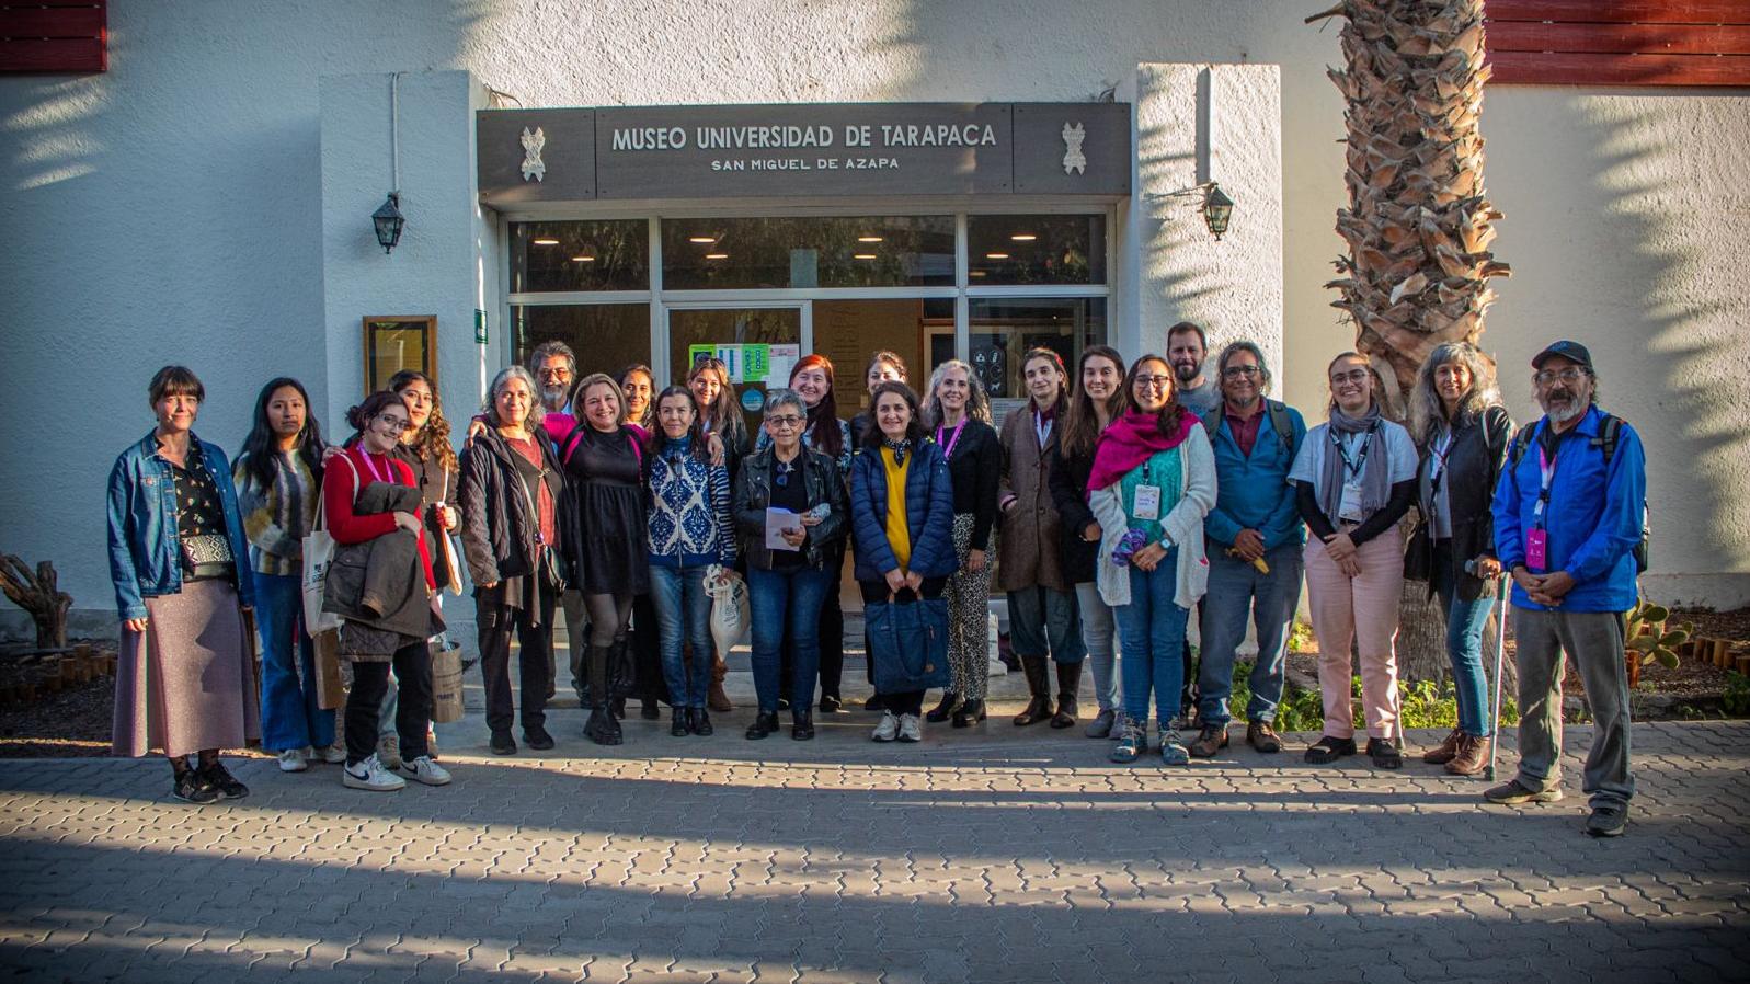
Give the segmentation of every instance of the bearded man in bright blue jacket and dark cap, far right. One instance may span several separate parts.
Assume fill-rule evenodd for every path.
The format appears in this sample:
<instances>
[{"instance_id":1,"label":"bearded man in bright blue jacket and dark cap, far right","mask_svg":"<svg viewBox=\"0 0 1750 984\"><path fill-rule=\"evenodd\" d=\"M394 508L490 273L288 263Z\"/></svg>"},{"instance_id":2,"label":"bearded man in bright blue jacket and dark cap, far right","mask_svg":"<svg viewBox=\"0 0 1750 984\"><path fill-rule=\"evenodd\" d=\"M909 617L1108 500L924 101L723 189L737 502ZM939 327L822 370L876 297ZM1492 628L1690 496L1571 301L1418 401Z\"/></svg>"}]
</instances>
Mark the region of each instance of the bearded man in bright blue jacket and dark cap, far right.
<instances>
[{"instance_id":1,"label":"bearded man in bright blue jacket and dark cap, far right","mask_svg":"<svg viewBox=\"0 0 1750 984\"><path fill-rule=\"evenodd\" d=\"M1514 576L1519 641L1519 774L1493 804L1561 798L1561 655L1580 667L1592 709L1582 790L1586 832L1617 837L1634 795L1629 776L1626 613L1647 508L1647 457L1628 424L1596 406L1592 355L1558 341L1531 359L1544 418L1514 439L1494 488L1494 552Z\"/></svg>"}]
</instances>

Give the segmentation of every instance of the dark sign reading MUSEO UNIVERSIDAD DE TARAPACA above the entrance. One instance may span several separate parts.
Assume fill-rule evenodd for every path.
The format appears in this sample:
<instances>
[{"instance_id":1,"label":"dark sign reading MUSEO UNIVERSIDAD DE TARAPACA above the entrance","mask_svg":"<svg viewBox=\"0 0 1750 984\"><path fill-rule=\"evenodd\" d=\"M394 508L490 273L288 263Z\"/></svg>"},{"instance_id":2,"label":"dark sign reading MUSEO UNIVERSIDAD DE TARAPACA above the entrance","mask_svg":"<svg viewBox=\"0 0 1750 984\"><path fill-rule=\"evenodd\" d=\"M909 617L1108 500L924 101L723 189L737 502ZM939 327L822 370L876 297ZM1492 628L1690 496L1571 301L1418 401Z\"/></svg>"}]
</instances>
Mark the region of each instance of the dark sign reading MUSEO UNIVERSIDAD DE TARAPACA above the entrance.
<instances>
[{"instance_id":1,"label":"dark sign reading MUSEO UNIVERSIDAD DE TARAPACA above the entrance","mask_svg":"<svg viewBox=\"0 0 1750 984\"><path fill-rule=\"evenodd\" d=\"M544 173L528 180L530 135ZM794 103L481 110L480 198L1130 191L1127 103Z\"/></svg>"}]
</instances>

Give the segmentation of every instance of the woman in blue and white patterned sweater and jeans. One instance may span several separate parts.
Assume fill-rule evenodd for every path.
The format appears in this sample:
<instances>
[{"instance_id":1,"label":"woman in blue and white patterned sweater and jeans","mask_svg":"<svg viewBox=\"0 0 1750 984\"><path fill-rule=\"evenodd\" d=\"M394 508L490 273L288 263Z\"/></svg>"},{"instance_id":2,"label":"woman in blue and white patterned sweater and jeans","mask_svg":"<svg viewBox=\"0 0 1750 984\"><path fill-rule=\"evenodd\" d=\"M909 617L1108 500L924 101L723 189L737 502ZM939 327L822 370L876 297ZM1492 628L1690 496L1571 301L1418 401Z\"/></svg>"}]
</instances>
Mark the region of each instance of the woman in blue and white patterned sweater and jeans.
<instances>
[{"instance_id":1,"label":"woman in blue and white patterned sweater and jeans","mask_svg":"<svg viewBox=\"0 0 1750 984\"><path fill-rule=\"evenodd\" d=\"M691 390L668 387L656 399L656 432L646 455L649 478L651 602L656 606L662 672L674 721L668 734L709 735L714 644L705 571L721 564L733 578L735 524L730 469L710 464ZM691 644L691 660L686 646Z\"/></svg>"}]
</instances>

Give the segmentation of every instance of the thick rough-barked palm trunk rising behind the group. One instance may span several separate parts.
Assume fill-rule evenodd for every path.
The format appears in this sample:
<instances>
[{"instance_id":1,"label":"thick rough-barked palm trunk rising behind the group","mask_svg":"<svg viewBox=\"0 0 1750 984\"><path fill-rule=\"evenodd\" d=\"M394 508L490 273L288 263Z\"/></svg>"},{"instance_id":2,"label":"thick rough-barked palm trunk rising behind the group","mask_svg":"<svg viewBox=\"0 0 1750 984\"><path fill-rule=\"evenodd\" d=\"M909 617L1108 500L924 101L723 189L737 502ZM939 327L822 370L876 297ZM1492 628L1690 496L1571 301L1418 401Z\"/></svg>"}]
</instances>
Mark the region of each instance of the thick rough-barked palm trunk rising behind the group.
<instances>
[{"instance_id":1,"label":"thick rough-barked palm trunk rising behind the group","mask_svg":"<svg viewBox=\"0 0 1750 984\"><path fill-rule=\"evenodd\" d=\"M1482 0L1344 0L1307 23L1326 18L1346 21L1346 67L1328 74L1348 103L1349 189L1349 252L1326 287L1402 396L1435 345L1477 341L1489 278L1510 273L1489 252L1502 214L1482 187Z\"/></svg>"}]
</instances>

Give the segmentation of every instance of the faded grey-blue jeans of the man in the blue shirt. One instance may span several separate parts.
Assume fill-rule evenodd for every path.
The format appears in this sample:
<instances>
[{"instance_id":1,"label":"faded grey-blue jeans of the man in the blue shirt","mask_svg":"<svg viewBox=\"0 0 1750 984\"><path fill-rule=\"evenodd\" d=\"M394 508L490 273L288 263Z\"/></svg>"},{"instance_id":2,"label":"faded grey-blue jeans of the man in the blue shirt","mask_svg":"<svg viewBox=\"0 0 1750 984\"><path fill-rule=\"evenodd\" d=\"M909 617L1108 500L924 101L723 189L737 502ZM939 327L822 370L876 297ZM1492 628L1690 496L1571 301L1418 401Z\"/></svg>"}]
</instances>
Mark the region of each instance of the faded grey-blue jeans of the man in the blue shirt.
<instances>
[{"instance_id":1,"label":"faded grey-blue jeans of the man in the blue shirt","mask_svg":"<svg viewBox=\"0 0 1750 984\"><path fill-rule=\"evenodd\" d=\"M1269 574L1260 574L1250 560L1228 557L1209 541L1209 594L1202 601L1202 665L1197 671L1197 720L1209 727L1227 727L1232 714L1227 699L1234 693L1234 653L1246 639L1246 615L1258 630L1258 658L1251 664L1251 700L1248 721L1274 721L1283 702L1283 662L1288 658L1288 627L1300 604L1298 543L1284 543L1264 552Z\"/></svg>"}]
</instances>

